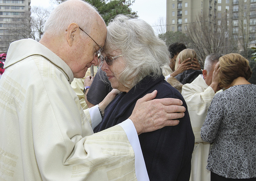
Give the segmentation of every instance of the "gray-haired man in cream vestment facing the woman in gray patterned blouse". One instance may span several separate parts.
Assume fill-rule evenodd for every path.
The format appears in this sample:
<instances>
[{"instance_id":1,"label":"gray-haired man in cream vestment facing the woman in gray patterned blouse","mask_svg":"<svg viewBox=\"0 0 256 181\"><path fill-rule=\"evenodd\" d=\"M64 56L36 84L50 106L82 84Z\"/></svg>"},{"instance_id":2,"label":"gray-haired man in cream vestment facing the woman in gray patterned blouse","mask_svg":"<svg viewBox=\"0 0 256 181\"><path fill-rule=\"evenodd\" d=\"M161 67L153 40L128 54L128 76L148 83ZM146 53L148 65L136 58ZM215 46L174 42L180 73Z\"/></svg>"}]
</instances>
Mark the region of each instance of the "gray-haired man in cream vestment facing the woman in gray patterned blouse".
<instances>
[{"instance_id":1,"label":"gray-haired man in cream vestment facing the woman in gray patterned blouse","mask_svg":"<svg viewBox=\"0 0 256 181\"><path fill-rule=\"evenodd\" d=\"M187 103L195 135L190 181L210 181L210 171L206 169L210 143L204 142L201 139L200 130L211 101L215 93L220 90L217 62L221 56L218 53L208 55L204 62L203 75L199 75L190 84L182 86L181 94Z\"/></svg>"}]
</instances>

